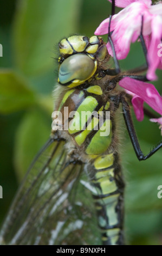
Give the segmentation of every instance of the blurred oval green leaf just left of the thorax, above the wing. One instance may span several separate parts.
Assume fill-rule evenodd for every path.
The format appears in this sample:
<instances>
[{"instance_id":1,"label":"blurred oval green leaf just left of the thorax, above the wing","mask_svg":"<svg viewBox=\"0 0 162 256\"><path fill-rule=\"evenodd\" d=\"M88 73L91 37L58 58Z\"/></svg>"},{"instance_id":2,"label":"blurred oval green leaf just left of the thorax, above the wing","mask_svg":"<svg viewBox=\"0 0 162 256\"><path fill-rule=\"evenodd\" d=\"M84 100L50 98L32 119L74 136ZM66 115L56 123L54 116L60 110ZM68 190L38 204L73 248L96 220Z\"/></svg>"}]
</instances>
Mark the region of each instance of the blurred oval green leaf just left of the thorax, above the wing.
<instances>
[{"instance_id":1,"label":"blurred oval green leaf just left of the thorax, above the wing","mask_svg":"<svg viewBox=\"0 0 162 256\"><path fill-rule=\"evenodd\" d=\"M15 139L14 162L19 180L33 161L35 155L49 138L51 117L40 109L32 109L21 121Z\"/></svg>"}]
</instances>

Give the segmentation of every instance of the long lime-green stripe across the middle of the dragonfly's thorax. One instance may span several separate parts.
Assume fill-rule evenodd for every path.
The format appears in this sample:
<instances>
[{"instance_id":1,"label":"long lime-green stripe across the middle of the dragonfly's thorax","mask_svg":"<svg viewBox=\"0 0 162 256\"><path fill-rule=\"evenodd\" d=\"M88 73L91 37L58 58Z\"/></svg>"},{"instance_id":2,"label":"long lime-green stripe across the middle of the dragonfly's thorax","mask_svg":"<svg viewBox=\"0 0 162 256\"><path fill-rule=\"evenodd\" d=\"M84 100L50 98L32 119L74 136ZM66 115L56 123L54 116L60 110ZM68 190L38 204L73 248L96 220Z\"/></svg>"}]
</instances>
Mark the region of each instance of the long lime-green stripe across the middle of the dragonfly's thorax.
<instances>
[{"instance_id":1,"label":"long lime-green stripe across the middle of the dragonfly's thorax","mask_svg":"<svg viewBox=\"0 0 162 256\"><path fill-rule=\"evenodd\" d=\"M96 106L98 106L98 101L92 96L88 96L82 101L80 106L76 109L73 120L69 123L68 131L70 134L83 130L83 127L86 125L87 120L92 115Z\"/></svg>"}]
</instances>

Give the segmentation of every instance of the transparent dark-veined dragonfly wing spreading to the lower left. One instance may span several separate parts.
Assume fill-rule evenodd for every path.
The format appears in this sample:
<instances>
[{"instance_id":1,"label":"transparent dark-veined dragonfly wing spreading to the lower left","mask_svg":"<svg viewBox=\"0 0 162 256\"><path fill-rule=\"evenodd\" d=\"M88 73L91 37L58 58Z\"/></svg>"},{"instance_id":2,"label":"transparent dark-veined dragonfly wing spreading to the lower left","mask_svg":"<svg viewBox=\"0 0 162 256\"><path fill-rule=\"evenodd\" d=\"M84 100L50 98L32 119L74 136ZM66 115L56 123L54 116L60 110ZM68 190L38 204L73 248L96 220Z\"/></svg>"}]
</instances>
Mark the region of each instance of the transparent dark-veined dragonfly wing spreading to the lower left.
<instances>
[{"instance_id":1,"label":"transparent dark-veined dragonfly wing spreading to the lower left","mask_svg":"<svg viewBox=\"0 0 162 256\"><path fill-rule=\"evenodd\" d=\"M95 208L83 165L55 136L36 157L0 233L9 245L99 245Z\"/></svg>"}]
</instances>

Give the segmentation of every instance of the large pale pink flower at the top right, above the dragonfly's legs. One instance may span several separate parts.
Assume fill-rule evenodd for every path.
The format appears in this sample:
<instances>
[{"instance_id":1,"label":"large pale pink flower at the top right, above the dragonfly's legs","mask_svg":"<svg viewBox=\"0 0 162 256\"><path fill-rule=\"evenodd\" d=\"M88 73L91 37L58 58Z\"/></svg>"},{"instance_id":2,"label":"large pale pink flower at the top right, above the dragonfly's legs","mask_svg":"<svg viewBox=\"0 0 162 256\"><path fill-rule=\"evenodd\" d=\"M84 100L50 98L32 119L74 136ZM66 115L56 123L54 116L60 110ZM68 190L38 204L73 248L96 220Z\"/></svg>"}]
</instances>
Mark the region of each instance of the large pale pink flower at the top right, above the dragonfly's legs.
<instances>
[{"instance_id":1,"label":"large pale pink flower at the top right, above the dragonfly's legs","mask_svg":"<svg viewBox=\"0 0 162 256\"><path fill-rule=\"evenodd\" d=\"M111 2L111 1L110 1ZM125 7L118 14L113 15L111 21L112 40L115 47L116 57L118 59L126 58L131 42L135 42L141 31L141 22L143 17L142 34L146 40L149 80L157 79L155 70L162 69L162 49L160 44L162 38L162 2L151 5L150 0L117 0L115 4L118 7ZM96 35L108 33L109 18L102 21L96 29ZM159 47L159 48L158 48ZM162 45L161 45L162 48ZM107 43L109 54L113 56L112 48Z\"/></svg>"}]
</instances>

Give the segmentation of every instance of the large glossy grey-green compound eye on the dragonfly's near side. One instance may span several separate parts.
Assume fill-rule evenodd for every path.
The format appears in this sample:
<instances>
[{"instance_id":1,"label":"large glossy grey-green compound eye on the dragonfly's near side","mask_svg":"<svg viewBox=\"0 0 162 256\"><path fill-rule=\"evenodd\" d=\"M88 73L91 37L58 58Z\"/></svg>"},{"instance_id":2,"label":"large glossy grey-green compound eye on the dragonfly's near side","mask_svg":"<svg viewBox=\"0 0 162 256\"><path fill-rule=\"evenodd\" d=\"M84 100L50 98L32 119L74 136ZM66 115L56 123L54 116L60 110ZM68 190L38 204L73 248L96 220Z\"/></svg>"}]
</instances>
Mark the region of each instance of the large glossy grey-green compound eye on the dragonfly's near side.
<instances>
[{"instance_id":1,"label":"large glossy grey-green compound eye on the dragonfly's near side","mask_svg":"<svg viewBox=\"0 0 162 256\"><path fill-rule=\"evenodd\" d=\"M95 63L86 54L74 54L63 61L59 69L60 83L85 81L94 74Z\"/></svg>"}]
</instances>

